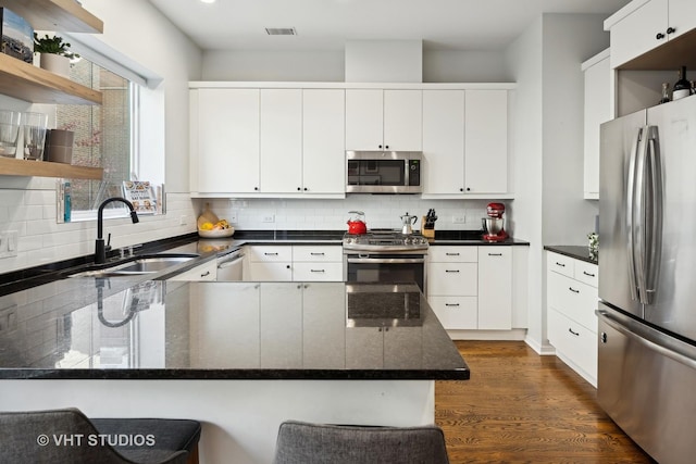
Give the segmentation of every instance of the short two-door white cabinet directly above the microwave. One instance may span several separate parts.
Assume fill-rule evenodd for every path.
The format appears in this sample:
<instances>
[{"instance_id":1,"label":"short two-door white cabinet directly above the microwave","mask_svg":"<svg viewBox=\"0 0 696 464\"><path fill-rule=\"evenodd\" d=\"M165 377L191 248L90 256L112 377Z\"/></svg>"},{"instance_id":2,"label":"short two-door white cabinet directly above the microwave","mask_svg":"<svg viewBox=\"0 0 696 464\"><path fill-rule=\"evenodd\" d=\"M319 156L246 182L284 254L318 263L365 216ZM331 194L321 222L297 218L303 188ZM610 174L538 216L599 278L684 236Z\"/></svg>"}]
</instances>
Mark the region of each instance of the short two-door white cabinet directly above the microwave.
<instances>
[{"instance_id":1,"label":"short two-door white cabinet directly above the microwave","mask_svg":"<svg viewBox=\"0 0 696 464\"><path fill-rule=\"evenodd\" d=\"M347 89L346 150L421 151L422 90Z\"/></svg>"}]
</instances>

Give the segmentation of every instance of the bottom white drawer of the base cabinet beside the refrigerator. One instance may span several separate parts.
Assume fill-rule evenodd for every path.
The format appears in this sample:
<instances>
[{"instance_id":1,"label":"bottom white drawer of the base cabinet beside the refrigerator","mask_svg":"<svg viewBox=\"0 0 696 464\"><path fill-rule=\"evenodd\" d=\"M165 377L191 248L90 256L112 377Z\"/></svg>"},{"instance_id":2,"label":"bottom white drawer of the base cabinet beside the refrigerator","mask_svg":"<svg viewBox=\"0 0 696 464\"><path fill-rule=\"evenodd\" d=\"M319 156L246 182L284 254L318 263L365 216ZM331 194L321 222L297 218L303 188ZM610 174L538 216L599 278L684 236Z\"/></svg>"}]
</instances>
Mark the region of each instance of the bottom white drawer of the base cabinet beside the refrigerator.
<instances>
[{"instance_id":1,"label":"bottom white drawer of the base cabinet beside the refrigerator","mask_svg":"<svg viewBox=\"0 0 696 464\"><path fill-rule=\"evenodd\" d=\"M592 379L597 378L597 334L549 310L548 341Z\"/></svg>"}]
</instances>

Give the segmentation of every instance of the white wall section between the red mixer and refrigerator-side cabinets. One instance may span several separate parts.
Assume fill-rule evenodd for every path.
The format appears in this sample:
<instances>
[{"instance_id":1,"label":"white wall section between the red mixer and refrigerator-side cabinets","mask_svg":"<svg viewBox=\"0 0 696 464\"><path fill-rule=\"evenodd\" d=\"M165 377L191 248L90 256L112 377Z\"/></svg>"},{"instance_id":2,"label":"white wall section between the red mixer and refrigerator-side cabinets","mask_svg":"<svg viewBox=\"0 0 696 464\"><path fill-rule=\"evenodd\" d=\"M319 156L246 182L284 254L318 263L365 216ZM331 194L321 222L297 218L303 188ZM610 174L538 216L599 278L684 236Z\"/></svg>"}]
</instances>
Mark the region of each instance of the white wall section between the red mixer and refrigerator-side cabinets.
<instances>
[{"instance_id":1,"label":"white wall section between the red mixer and refrigerator-side cabinets","mask_svg":"<svg viewBox=\"0 0 696 464\"><path fill-rule=\"evenodd\" d=\"M518 83L515 237L530 241L527 343L546 337L545 244L586 244L597 202L583 200L583 75L608 47L601 15L545 14L507 50ZM523 218L523 221L521 221Z\"/></svg>"}]
</instances>

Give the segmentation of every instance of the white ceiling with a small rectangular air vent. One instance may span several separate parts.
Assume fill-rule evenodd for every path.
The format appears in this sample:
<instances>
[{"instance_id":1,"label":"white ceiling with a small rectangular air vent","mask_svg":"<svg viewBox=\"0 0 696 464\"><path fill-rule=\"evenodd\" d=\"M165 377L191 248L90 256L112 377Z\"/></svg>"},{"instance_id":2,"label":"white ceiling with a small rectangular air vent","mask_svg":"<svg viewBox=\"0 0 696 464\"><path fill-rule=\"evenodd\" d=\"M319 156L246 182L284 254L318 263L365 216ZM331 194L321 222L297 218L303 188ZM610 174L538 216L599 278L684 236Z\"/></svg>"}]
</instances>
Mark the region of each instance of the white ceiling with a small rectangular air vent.
<instances>
[{"instance_id":1,"label":"white ceiling with a small rectangular air vent","mask_svg":"<svg viewBox=\"0 0 696 464\"><path fill-rule=\"evenodd\" d=\"M630 0L149 0L203 50L343 50L351 39L501 50L542 13L609 16ZM295 27L297 36L269 36Z\"/></svg>"}]
</instances>

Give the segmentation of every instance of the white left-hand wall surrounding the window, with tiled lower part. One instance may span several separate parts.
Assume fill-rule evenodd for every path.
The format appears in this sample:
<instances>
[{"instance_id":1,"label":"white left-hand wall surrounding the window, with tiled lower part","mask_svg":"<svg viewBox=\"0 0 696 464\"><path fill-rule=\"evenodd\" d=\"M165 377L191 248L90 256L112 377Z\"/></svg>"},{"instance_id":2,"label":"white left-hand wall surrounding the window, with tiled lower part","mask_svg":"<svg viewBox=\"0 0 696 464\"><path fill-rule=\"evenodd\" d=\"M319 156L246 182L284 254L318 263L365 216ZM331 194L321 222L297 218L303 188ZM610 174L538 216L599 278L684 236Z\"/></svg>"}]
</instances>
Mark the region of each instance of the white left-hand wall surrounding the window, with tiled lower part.
<instances>
[{"instance_id":1,"label":"white left-hand wall surrounding the window, with tiled lower part","mask_svg":"<svg viewBox=\"0 0 696 464\"><path fill-rule=\"evenodd\" d=\"M112 246L123 247L195 231L195 211L188 198L188 81L200 79L200 50L149 2L141 0L83 0L104 22L99 35L109 47L163 78L153 89L163 102L164 134L144 134L160 140L166 154L169 213L108 221ZM173 49L176 52L163 53ZM0 105L24 110L27 102L0 97ZM154 148L153 148L154 149ZM147 156L148 153L144 153ZM181 193L176 193L181 192ZM0 273L94 253L96 222L57 224L55 179L0 176L0 230L17 230L18 255L0 260ZM188 217L182 225L181 217Z\"/></svg>"}]
</instances>

